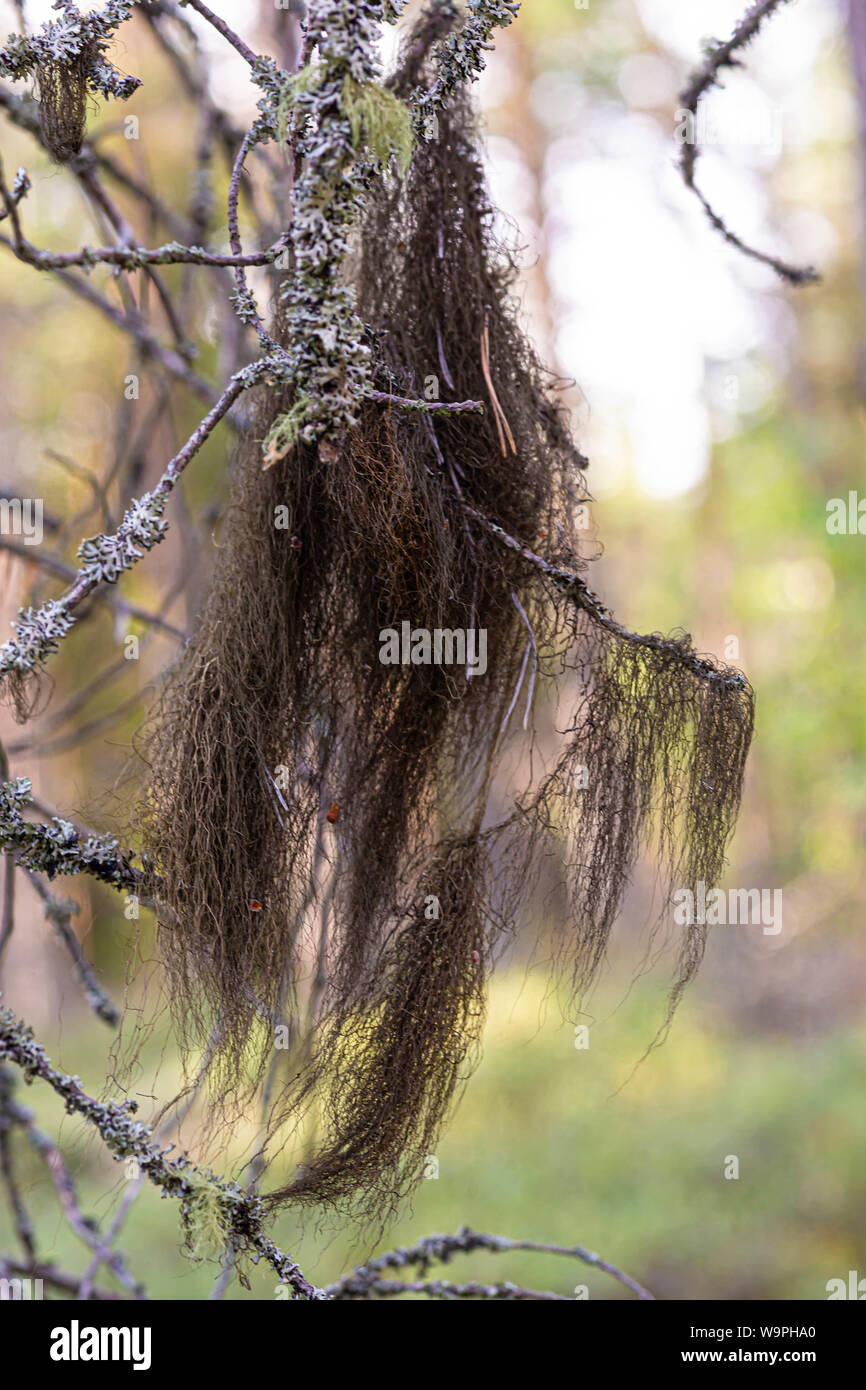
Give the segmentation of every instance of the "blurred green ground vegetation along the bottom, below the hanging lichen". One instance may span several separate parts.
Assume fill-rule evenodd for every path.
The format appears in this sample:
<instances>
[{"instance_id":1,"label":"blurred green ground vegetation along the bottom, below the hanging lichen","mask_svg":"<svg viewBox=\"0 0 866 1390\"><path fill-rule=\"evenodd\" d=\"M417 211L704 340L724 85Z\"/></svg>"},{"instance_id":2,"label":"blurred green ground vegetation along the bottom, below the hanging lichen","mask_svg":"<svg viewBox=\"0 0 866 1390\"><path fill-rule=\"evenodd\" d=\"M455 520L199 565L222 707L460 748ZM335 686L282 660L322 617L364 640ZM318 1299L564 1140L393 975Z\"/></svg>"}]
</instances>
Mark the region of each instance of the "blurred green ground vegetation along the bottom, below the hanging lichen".
<instances>
[{"instance_id":1,"label":"blurred green ground vegetation along the bottom, below the hanging lichen","mask_svg":"<svg viewBox=\"0 0 866 1390\"><path fill-rule=\"evenodd\" d=\"M624 988L621 973L617 980ZM617 1008L612 984L594 1001L589 1048L578 1051L573 1030L545 1002L539 977L527 979L521 966L495 977L484 1061L439 1147L439 1176L421 1184L414 1211L377 1248L468 1222L500 1234L588 1244L666 1298L820 1300L828 1279L862 1270L863 1030L758 1037L709 1006L716 988L699 997L701 988L684 1001L669 1041L630 1076L655 1031L660 995L655 1012L646 992ZM92 1074L104 1065L97 1044L107 1047L92 1027L68 1038ZM142 1061L146 1070L168 1063L174 1076L158 1042ZM49 1130L63 1113L43 1087L32 1087L26 1104ZM253 1133L238 1131L238 1165ZM83 1209L99 1211L104 1222L106 1177L117 1170L106 1169L97 1147L72 1125L64 1151ZM61 1268L81 1268L81 1243L57 1220L39 1159L22 1144L15 1154L22 1179L40 1193L31 1205L43 1248ZM727 1154L740 1156L738 1180L723 1176ZM282 1176L278 1165L265 1186ZM192 1212L196 1262L178 1264L174 1202L146 1187L132 1207L122 1248L152 1297L207 1297L218 1272L218 1195L211 1193ZM122 1195L122 1184L114 1195ZM322 1240L313 1223L300 1236L291 1215L274 1236L320 1284L370 1252L343 1232ZM0 1245L11 1247L8 1208L0 1209ZM232 1280L227 1297L274 1300L272 1270L250 1268L249 1277L250 1293ZM513 1279L566 1294L585 1283L592 1300L631 1297L598 1270L518 1252L460 1258L449 1277ZM114 1286L104 1270L99 1283Z\"/></svg>"}]
</instances>

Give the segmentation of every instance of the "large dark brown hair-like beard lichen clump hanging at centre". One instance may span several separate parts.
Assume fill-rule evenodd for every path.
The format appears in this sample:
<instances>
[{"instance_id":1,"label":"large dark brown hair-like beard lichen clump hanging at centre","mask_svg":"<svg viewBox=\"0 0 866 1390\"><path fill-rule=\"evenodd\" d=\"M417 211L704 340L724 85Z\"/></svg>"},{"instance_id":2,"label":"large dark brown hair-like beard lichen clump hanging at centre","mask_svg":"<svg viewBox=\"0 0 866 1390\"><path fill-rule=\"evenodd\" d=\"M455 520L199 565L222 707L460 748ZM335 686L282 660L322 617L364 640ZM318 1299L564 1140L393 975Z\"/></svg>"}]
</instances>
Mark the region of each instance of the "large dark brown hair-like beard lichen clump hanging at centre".
<instances>
[{"instance_id":1,"label":"large dark brown hair-like beard lichen clump hanging at centre","mask_svg":"<svg viewBox=\"0 0 866 1390\"><path fill-rule=\"evenodd\" d=\"M142 820L175 1016L213 1058L214 1113L270 1072L271 1130L313 1122L303 1166L265 1201L385 1218L435 1151L542 872L578 994L646 844L669 891L719 878L752 695L687 637L628 632L580 578L582 459L517 322L461 92L406 174L367 189L345 265L367 388L417 399L435 375L489 409L432 417L361 388L345 410L331 349L300 388L259 393L214 582L154 712ZM289 352L299 313L289 297L274 327ZM487 674L382 664L379 632L400 620L484 628ZM509 720L527 630L538 688L571 706L544 771L541 735ZM506 796L516 756L524 783ZM671 1009L702 951L689 927Z\"/></svg>"}]
</instances>

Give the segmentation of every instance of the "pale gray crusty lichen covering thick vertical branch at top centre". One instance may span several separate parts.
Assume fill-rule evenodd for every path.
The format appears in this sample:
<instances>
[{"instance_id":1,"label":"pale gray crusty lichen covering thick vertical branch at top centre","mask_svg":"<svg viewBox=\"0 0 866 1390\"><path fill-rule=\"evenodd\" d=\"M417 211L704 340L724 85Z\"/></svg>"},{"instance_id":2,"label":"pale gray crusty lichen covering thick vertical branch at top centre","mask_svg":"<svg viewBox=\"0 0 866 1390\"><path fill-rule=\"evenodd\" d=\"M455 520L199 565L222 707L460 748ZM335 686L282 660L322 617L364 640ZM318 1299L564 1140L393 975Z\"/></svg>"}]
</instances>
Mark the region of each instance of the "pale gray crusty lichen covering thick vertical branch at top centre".
<instances>
[{"instance_id":1,"label":"pale gray crusty lichen covering thick vertical branch at top centre","mask_svg":"<svg viewBox=\"0 0 866 1390\"><path fill-rule=\"evenodd\" d=\"M510 24L518 8L517 0L467 0L464 24L436 50L435 83L411 104L416 133L430 133L436 108L484 68L493 29ZM288 357L303 410L284 417L279 439L271 431L265 442L271 463L286 441L314 442L357 424L360 402L371 389L370 349L342 270L371 167L391 154L405 165L411 152L402 103L391 99L400 111L384 104L377 81L379 25L393 24L402 10L403 0L339 6L311 0L306 33L314 58L299 78L284 82L277 106L270 103L279 139L286 136L291 106L304 160L293 190L293 275L282 292Z\"/></svg>"}]
</instances>

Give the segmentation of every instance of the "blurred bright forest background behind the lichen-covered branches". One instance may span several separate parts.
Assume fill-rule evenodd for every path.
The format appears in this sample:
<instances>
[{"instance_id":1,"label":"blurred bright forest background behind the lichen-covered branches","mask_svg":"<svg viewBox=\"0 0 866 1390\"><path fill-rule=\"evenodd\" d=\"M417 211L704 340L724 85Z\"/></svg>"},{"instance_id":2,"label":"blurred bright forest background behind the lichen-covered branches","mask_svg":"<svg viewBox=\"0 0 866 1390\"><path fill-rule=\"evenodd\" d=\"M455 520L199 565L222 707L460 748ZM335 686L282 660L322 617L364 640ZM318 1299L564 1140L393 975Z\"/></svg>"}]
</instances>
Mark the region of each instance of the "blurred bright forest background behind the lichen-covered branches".
<instances>
[{"instance_id":1,"label":"blurred bright forest background behind the lichen-covered branches","mask_svg":"<svg viewBox=\"0 0 866 1390\"><path fill-rule=\"evenodd\" d=\"M527 0L499 33L478 90L493 195L521 245L532 335L542 357L577 382L567 399L591 460L592 535L603 548L594 587L631 628L685 627L699 649L741 666L755 685L756 739L726 887L781 888L783 930L712 931L667 1040L646 1056L670 965L645 962L652 865L635 876L587 1001L588 1047L577 1047L573 1022L563 1022L534 963L544 942L528 933L495 977L484 1058L435 1155L438 1172L382 1248L468 1223L580 1241L663 1298L808 1300L826 1297L827 1280L849 1269L866 1275L866 539L830 535L826 525L827 502L863 486L866 33L858 89L858 25L845 4L798 0L708 101L699 181L746 240L817 265L822 282L794 291L724 245L674 167L678 92L701 61L702 39L726 38L742 7ZM272 47L270 0L257 33L253 0L215 8L259 50ZM29 0L28 15L44 19L47 3ZM17 6L0 3L0 18L3 32L15 28ZM243 63L200 33L220 100L238 120L249 117L254 93ZM143 86L126 106L95 110L89 138L186 208L195 103L143 18L125 25L121 40L113 56ZM125 138L128 114L139 117L139 139ZM0 125L7 179L18 164L33 179L31 239L57 250L104 243L75 181L3 114ZM214 179L207 235L222 246L228 171L220 160ZM195 370L217 381L228 348L210 274L177 267L165 278L196 296ZM92 282L121 303L104 268ZM44 498L43 548L71 562L81 537L101 528L82 468L101 478L121 460L120 492L108 499L117 516L120 500L140 495L195 427L200 403L172 386L170 416L150 430L156 388L140 368L140 399L118 430L125 377L139 370L128 341L56 277L6 250L0 296L0 488ZM152 311L161 325L158 304ZM171 505L170 538L121 585L125 598L160 609L185 578L165 609L181 630L200 580L183 574L185 548L193 535L211 543L228 448L225 432L209 442L183 477L182 505L178 495ZM0 550L4 635L19 603L57 585ZM97 828L117 817L106 788L122 803L131 741L177 651L170 634L145 631L93 605L53 666L56 689L40 719L17 727L1 716L11 774L32 777L44 805ZM138 662L122 659L128 634L143 638ZM111 680L95 680L107 667ZM82 1002L19 878L4 1002L60 1066L100 1091L114 1038ZM126 977L136 976L126 999L135 1019L156 990L149 913L125 920L115 895L83 880L58 891L81 902L75 929L108 992L122 1001ZM179 1077L167 1027L139 1062L132 1091L147 1118L149 1097L165 1099ZM111 1081L108 1094L117 1094ZM110 1219L122 1168L78 1120L64 1120L53 1095L33 1088L24 1099L61 1134L85 1211ZM195 1125L183 1137L195 1151ZM252 1130L236 1133L224 1166L250 1143ZM730 1155L740 1161L737 1180L724 1176ZM44 1169L21 1162L43 1250L79 1268L86 1252ZM271 1177L278 1172L279 1162ZM368 1254L352 1233L302 1230L292 1215L274 1234L317 1283ZM11 1240L3 1211L0 1248ZM120 1247L152 1297L203 1298L211 1289L215 1266L182 1258L179 1240L175 1205L143 1191ZM460 1269L467 1279L560 1293L587 1283L592 1298L631 1297L602 1273L542 1255L478 1254ZM108 1273L104 1280L113 1283ZM232 1282L227 1297L274 1297L272 1273L250 1270L250 1280L252 1291Z\"/></svg>"}]
</instances>

